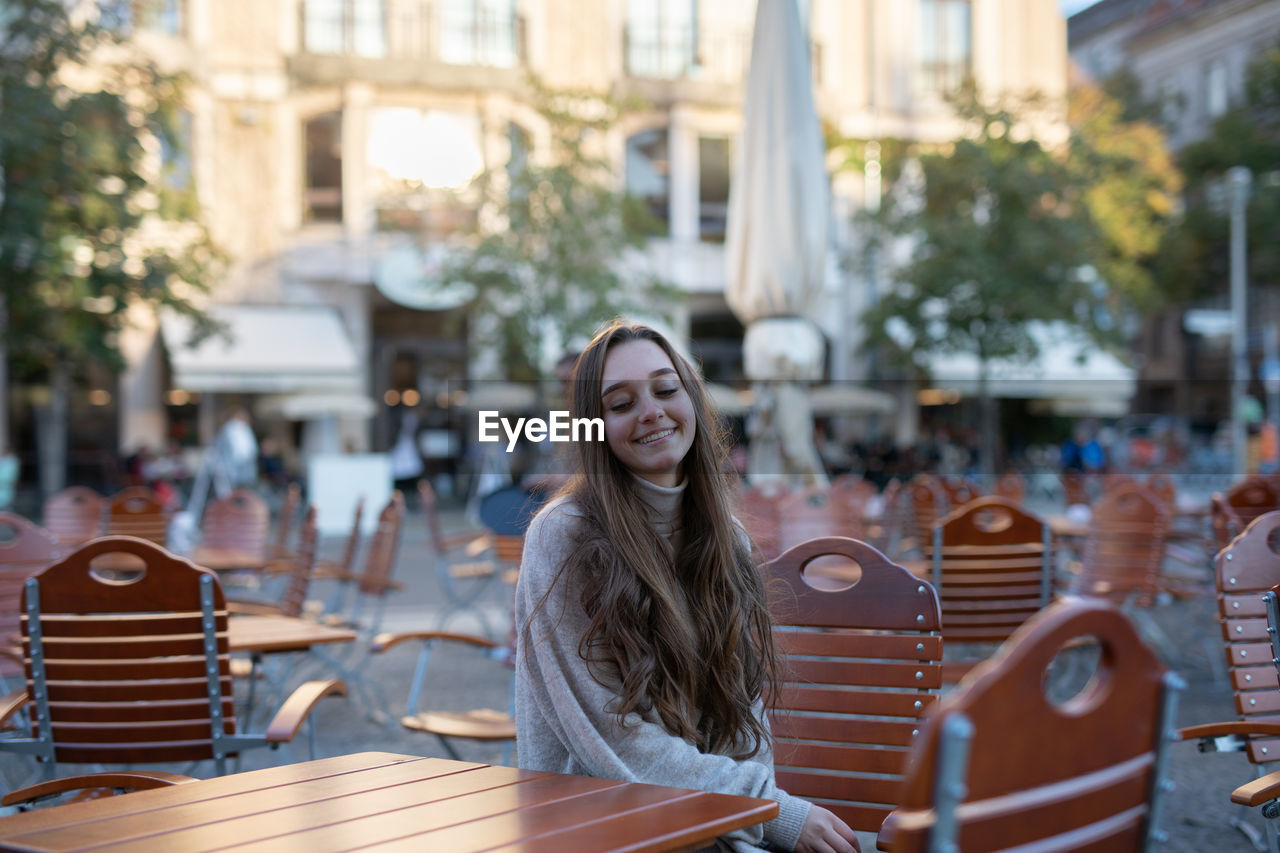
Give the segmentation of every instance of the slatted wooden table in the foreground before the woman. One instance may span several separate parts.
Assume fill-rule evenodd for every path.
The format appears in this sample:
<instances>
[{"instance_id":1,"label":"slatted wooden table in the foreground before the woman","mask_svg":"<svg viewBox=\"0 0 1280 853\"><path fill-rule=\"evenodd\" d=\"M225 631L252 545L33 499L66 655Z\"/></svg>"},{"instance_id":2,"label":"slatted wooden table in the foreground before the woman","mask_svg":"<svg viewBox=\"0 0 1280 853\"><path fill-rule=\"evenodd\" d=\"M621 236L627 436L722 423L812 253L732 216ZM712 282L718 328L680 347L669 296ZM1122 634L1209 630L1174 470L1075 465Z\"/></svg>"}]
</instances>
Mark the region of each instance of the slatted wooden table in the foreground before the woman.
<instances>
[{"instance_id":1,"label":"slatted wooden table in the foreground before the woman","mask_svg":"<svg viewBox=\"0 0 1280 853\"><path fill-rule=\"evenodd\" d=\"M365 752L0 818L3 850L686 850L771 799Z\"/></svg>"}]
</instances>

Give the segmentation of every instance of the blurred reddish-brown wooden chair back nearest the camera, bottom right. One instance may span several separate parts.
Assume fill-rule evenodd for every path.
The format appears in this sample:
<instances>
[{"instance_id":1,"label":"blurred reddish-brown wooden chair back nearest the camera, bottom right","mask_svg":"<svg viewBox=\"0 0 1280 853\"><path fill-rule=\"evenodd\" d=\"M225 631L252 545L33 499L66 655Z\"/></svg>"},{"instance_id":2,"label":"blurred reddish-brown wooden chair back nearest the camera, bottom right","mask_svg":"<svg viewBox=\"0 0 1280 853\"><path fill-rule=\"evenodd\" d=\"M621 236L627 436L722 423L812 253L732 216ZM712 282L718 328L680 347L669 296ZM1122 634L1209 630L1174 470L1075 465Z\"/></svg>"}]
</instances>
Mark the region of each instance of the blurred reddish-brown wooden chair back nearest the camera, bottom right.
<instances>
[{"instance_id":1,"label":"blurred reddish-brown wooden chair back nearest the camera, bottom right","mask_svg":"<svg viewBox=\"0 0 1280 853\"><path fill-rule=\"evenodd\" d=\"M1097 672L1076 695L1051 701L1044 672L1080 638L1101 647ZM1152 849L1181 686L1114 606L1051 605L929 713L877 847Z\"/></svg>"}]
</instances>

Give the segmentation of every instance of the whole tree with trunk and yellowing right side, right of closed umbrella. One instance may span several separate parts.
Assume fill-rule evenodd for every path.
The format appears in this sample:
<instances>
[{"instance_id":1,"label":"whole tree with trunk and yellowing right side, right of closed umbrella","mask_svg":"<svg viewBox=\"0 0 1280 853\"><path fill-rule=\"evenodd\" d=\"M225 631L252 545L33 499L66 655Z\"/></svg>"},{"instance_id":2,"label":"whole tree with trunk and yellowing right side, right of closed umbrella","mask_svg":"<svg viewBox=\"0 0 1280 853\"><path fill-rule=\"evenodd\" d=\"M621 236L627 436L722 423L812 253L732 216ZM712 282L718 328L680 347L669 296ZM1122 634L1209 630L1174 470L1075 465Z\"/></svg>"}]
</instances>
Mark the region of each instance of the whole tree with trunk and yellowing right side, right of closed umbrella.
<instances>
[{"instance_id":1,"label":"whole tree with trunk and yellowing right side, right of closed umbrella","mask_svg":"<svg viewBox=\"0 0 1280 853\"><path fill-rule=\"evenodd\" d=\"M1126 302L1152 293L1144 264L1158 245L1167 175L1142 173L1135 181L1146 190L1120 179L1126 168L1146 168L1148 151L1142 134L1140 142L1107 140L1117 114L1082 110L1071 145L1051 150L1027 131L1027 117L1044 106L1038 99L989 105L966 92L955 106L973 132L920 152L919 192L891 193L896 204L877 218L886 236L911 241L913 251L864 323L869 345L922 371L936 353L977 357L980 459L991 474L991 362L1034 359L1034 323L1068 323L1100 343L1119 341ZM1119 210L1134 196L1144 209L1137 218Z\"/></svg>"}]
</instances>

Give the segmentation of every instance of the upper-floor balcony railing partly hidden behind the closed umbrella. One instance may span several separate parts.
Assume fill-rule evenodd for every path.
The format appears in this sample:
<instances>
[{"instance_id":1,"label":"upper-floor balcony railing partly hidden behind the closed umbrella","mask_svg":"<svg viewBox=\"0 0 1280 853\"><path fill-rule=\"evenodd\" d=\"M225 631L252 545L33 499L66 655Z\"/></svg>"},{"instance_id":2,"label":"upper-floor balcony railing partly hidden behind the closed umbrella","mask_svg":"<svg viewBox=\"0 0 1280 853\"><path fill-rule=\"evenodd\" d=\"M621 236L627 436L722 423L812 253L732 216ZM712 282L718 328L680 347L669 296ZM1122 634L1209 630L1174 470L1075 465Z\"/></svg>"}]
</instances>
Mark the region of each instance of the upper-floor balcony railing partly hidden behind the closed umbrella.
<instances>
[{"instance_id":1,"label":"upper-floor balcony railing partly hidden behind the closed umbrella","mask_svg":"<svg viewBox=\"0 0 1280 853\"><path fill-rule=\"evenodd\" d=\"M751 60L749 28L627 27L623 32L626 72L650 79L699 79L741 83ZM822 45L809 42L813 81L822 85Z\"/></svg>"}]
</instances>

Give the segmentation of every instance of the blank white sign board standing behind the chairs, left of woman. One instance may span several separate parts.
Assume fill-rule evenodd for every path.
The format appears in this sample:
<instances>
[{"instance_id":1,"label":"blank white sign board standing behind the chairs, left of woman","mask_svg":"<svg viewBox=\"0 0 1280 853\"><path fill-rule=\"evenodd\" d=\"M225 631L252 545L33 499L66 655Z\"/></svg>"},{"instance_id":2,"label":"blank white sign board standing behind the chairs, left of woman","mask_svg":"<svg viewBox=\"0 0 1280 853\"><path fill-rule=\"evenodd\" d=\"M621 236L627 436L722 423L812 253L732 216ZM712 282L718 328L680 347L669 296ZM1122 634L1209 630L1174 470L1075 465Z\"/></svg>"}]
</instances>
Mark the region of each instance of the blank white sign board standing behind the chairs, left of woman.
<instances>
[{"instance_id":1,"label":"blank white sign board standing behind the chairs, left of woman","mask_svg":"<svg viewBox=\"0 0 1280 853\"><path fill-rule=\"evenodd\" d=\"M307 459L307 500L316 508L320 535L351 533L356 501L365 498L360 529L378 529L378 514L392 498L392 461L387 453L312 453Z\"/></svg>"}]
</instances>

